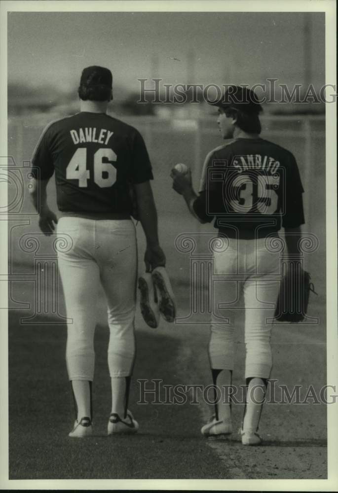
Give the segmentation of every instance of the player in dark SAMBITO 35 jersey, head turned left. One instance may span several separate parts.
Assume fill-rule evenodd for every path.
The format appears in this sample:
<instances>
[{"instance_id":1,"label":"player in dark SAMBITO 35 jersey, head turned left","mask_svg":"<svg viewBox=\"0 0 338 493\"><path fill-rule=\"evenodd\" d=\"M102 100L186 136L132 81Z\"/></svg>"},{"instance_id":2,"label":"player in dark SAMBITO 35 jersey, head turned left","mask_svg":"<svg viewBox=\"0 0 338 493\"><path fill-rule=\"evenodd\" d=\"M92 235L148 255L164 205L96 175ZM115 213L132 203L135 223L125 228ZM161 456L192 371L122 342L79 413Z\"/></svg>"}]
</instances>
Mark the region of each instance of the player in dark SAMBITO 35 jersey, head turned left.
<instances>
[{"instance_id":1,"label":"player in dark SAMBITO 35 jersey, head turned left","mask_svg":"<svg viewBox=\"0 0 338 493\"><path fill-rule=\"evenodd\" d=\"M171 174L173 188L183 195L189 211L200 222L214 220L219 232L214 275L220 282L213 286L209 356L213 384L221 395L215 392L215 414L201 431L206 436L232 432L228 389L238 300L244 298L247 391L241 435L243 445L257 445L272 366L271 319L281 268L278 231L285 229L291 266L300 260L303 189L292 153L260 137L262 107L253 91L230 86L216 106L221 135L230 140L207 155L199 195L191 186L190 172L183 175L173 169Z\"/></svg>"}]
</instances>

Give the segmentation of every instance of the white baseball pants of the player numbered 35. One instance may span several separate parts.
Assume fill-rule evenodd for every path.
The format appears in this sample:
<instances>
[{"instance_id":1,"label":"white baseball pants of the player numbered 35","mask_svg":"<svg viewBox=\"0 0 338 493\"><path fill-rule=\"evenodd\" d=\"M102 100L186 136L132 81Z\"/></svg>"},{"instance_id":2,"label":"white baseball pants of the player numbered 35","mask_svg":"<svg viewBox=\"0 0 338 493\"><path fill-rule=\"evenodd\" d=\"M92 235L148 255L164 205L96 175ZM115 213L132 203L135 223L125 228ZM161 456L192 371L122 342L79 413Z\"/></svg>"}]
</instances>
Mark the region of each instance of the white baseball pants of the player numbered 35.
<instances>
[{"instance_id":1,"label":"white baseball pants of the player numbered 35","mask_svg":"<svg viewBox=\"0 0 338 493\"><path fill-rule=\"evenodd\" d=\"M220 241L223 245L214 252L211 367L233 370L234 331L244 311L245 378L267 379L272 367L268 319L274 316L279 293L278 239Z\"/></svg>"}]
</instances>

